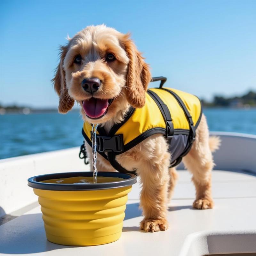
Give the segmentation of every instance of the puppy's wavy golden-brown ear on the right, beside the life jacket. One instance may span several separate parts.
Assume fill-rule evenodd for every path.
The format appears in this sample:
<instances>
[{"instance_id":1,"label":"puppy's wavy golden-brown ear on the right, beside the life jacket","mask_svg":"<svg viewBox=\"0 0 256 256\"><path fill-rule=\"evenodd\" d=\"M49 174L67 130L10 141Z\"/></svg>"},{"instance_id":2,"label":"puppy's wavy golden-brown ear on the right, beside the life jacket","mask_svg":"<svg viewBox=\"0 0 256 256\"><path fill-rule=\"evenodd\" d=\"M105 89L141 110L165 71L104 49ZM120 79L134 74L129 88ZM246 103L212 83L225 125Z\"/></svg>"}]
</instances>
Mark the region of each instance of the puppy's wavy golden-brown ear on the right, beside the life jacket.
<instances>
[{"instance_id":1,"label":"puppy's wavy golden-brown ear on the right, beside the life jacket","mask_svg":"<svg viewBox=\"0 0 256 256\"><path fill-rule=\"evenodd\" d=\"M121 42L130 60L126 79L126 98L132 107L142 108L146 102L145 93L151 79L149 66L130 39L130 34L124 35Z\"/></svg>"}]
</instances>

